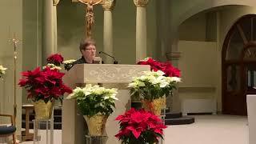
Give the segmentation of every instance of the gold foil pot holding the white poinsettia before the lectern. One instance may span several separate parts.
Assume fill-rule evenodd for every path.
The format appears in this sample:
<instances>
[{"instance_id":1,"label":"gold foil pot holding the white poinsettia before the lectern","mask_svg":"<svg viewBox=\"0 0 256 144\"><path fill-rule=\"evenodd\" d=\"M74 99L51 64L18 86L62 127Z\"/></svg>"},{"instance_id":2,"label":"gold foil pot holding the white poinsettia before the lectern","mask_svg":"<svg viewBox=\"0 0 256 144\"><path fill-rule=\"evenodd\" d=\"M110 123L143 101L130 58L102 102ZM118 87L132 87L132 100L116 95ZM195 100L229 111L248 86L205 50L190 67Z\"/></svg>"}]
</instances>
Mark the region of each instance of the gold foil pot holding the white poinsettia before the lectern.
<instances>
[{"instance_id":1,"label":"gold foil pot holding the white poinsettia before the lectern","mask_svg":"<svg viewBox=\"0 0 256 144\"><path fill-rule=\"evenodd\" d=\"M102 136L106 126L108 115L96 114L92 117L83 116L89 129L90 136Z\"/></svg>"}]
</instances>

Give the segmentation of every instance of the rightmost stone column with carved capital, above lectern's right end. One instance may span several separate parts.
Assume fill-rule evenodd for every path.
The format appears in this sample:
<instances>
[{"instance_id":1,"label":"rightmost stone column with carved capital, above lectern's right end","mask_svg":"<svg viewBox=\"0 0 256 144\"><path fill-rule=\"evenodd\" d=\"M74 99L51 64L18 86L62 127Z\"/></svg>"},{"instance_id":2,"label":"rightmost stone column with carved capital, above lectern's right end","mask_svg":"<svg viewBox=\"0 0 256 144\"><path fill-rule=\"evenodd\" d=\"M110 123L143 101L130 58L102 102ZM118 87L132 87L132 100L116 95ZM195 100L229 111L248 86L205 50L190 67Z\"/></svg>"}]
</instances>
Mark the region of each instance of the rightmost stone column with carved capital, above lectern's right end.
<instances>
[{"instance_id":1,"label":"rightmost stone column with carved capital, above lectern's right end","mask_svg":"<svg viewBox=\"0 0 256 144\"><path fill-rule=\"evenodd\" d=\"M136 14L136 62L146 58L146 4L149 0L134 0Z\"/></svg>"}]
</instances>

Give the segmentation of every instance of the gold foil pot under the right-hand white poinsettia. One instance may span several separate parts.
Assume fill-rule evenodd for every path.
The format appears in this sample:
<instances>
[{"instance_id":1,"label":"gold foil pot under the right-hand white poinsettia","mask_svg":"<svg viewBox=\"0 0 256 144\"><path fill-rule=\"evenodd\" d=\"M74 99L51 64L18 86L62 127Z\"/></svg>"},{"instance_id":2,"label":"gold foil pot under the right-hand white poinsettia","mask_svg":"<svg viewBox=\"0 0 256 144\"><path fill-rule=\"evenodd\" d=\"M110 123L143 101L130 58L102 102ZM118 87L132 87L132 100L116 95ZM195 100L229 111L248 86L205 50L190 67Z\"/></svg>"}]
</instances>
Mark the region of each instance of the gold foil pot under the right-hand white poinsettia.
<instances>
[{"instance_id":1,"label":"gold foil pot under the right-hand white poinsettia","mask_svg":"<svg viewBox=\"0 0 256 144\"><path fill-rule=\"evenodd\" d=\"M153 101L143 99L142 108L146 111L150 111L155 115L161 115L161 110L166 104L166 98L157 98Z\"/></svg>"}]
</instances>

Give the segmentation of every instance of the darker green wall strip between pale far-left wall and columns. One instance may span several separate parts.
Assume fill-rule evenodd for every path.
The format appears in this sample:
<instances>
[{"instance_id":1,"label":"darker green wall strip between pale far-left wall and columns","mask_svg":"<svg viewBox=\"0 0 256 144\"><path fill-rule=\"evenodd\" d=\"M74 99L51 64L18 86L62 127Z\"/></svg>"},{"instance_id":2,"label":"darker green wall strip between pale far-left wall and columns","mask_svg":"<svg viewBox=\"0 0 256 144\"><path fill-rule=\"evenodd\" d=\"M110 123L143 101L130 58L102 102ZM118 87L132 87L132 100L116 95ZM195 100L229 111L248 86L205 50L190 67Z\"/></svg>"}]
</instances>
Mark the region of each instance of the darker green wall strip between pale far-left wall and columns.
<instances>
[{"instance_id":1,"label":"darker green wall strip between pale far-left wall and columns","mask_svg":"<svg viewBox=\"0 0 256 144\"><path fill-rule=\"evenodd\" d=\"M26 0L22 2L22 47L23 47L23 64L22 70L34 70L35 67L41 66L42 48L41 48L41 18L42 18L42 1ZM30 101L26 98L26 90L22 90L22 103Z\"/></svg>"}]
</instances>

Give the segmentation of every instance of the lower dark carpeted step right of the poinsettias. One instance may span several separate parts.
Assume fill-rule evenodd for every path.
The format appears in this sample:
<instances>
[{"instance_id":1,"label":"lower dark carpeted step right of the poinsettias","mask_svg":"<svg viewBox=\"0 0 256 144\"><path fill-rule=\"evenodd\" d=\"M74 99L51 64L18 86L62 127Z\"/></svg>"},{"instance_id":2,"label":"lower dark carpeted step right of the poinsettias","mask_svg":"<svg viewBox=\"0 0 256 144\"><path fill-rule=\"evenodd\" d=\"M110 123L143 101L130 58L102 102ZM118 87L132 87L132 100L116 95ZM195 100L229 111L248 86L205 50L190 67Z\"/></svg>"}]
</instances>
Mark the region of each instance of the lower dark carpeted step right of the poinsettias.
<instances>
[{"instance_id":1,"label":"lower dark carpeted step right of the poinsettias","mask_svg":"<svg viewBox=\"0 0 256 144\"><path fill-rule=\"evenodd\" d=\"M166 125L186 125L186 124L191 124L191 123L194 123L194 118L192 118L192 117L166 119Z\"/></svg>"}]
</instances>

